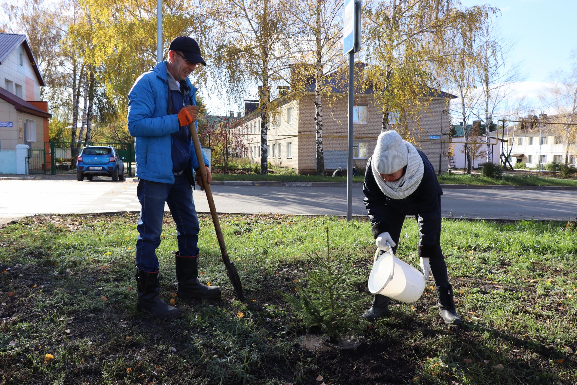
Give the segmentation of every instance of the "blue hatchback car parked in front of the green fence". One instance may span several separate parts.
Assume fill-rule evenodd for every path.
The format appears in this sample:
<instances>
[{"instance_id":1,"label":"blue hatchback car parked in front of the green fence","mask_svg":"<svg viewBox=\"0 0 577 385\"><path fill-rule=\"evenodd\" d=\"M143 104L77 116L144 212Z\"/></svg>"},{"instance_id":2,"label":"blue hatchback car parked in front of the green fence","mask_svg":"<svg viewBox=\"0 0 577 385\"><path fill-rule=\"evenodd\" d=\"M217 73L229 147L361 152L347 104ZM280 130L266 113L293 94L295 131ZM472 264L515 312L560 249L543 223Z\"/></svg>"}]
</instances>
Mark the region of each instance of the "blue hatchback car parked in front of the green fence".
<instances>
[{"instance_id":1,"label":"blue hatchback car parked in front of the green fence","mask_svg":"<svg viewBox=\"0 0 577 385\"><path fill-rule=\"evenodd\" d=\"M84 177L91 181L93 176L112 177L113 181L124 180L124 162L112 146L90 145L84 147L76 165L76 179Z\"/></svg>"}]
</instances>

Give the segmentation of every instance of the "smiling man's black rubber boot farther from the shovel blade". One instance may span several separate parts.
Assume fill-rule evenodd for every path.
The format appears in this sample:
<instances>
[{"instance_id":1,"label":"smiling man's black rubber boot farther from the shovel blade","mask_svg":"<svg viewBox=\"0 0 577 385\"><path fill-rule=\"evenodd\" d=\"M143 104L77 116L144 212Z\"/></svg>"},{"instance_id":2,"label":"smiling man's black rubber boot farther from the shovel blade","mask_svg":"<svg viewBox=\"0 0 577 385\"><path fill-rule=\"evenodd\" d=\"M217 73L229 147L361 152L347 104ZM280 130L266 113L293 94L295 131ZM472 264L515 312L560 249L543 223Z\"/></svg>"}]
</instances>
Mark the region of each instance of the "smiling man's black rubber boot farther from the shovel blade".
<instances>
[{"instance_id":1,"label":"smiling man's black rubber boot farther from the shovel blade","mask_svg":"<svg viewBox=\"0 0 577 385\"><path fill-rule=\"evenodd\" d=\"M138 287L138 306L141 312L147 312L159 319L172 319L178 317L180 311L174 306L168 305L158 296L160 284L158 271L147 272L136 268L136 283Z\"/></svg>"}]
</instances>

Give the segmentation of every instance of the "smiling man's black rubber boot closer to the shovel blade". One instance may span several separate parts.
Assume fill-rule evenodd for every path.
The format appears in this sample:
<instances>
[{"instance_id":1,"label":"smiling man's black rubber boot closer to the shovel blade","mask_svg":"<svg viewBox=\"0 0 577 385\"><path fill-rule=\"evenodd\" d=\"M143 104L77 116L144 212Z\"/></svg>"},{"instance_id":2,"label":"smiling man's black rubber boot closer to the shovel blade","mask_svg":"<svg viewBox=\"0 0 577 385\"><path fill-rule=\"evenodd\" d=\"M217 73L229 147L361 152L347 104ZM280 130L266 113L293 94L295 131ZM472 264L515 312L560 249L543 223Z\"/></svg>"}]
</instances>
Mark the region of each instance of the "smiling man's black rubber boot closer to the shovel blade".
<instances>
[{"instance_id":1,"label":"smiling man's black rubber boot closer to the shovel blade","mask_svg":"<svg viewBox=\"0 0 577 385\"><path fill-rule=\"evenodd\" d=\"M182 257L179 252L174 252L177 269L179 298L198 298L200 300L213 300L220 297L218 286L207 286L198 281L198 256Z\"/></svg>"}]
</instances>

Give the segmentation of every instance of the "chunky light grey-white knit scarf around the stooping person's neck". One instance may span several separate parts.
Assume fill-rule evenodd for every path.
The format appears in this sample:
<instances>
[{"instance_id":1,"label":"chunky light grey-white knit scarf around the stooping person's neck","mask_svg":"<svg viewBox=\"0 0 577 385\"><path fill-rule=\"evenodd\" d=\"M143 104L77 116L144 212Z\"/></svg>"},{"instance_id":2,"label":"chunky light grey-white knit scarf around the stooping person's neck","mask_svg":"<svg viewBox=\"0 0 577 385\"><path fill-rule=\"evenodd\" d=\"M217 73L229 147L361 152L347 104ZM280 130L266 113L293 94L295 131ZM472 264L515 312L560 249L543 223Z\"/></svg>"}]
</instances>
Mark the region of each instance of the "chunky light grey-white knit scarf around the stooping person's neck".
<instances>
[{"instance_id":1,"label":"chunky light grey-white knit scarf around the stooping person's neck","mask_svg":"<svg viewBox=\"0 0 577 385\"><path fill-rule=\"evenodd\" d=\"M391 199L404 199L414 193L419 184L421 184L425 170L421 155L419 155L415 146L406 140L404 140L404 143L407 145L407 150L409 150L409 163L407 163L407 170L404 175L398 181L385 182L379 174L379 171L377 171L377 168L371 164L374 180L377 181L384 195ZM371 159L371 163L373 163L373 159ZM376 162L375 160L375 163Z\"/></svg>"}]
</instances>

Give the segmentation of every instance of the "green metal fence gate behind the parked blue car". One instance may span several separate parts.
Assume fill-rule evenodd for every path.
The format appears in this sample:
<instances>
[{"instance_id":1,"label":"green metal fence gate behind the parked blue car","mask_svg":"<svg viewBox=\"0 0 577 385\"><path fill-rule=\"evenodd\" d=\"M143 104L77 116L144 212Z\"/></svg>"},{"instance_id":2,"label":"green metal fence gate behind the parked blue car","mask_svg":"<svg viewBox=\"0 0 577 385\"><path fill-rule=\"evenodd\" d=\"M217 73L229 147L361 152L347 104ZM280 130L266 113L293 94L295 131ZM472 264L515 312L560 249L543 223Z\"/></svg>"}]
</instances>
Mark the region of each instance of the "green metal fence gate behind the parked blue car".
<instances>
[{"instance_id":1,"label":"green metal fence gate behind the parked blue car","mask_svg":"<svg viewBox=\"0 0 577 385\"><path fill-rule=\"evenodd\" d=\"M72 142L50 142L51 157L51 174L76 174L76 160L82 149L88 145L102 145L104 147L112 146L118 152L118 156L124 162L124 174L133 175L132 163L136 162L134 158L134 147L132 143L125 142L90 142L90 143L72 143ZM74 145L74 151L72 149ZM77 149L77 151L76 151ZM73 155L74 152L74 155Z\"/></svg>"}]
</instances>

